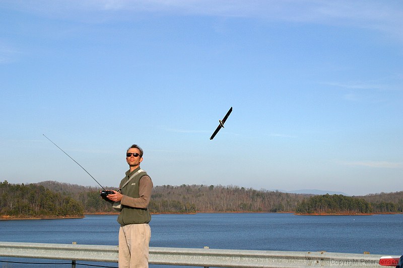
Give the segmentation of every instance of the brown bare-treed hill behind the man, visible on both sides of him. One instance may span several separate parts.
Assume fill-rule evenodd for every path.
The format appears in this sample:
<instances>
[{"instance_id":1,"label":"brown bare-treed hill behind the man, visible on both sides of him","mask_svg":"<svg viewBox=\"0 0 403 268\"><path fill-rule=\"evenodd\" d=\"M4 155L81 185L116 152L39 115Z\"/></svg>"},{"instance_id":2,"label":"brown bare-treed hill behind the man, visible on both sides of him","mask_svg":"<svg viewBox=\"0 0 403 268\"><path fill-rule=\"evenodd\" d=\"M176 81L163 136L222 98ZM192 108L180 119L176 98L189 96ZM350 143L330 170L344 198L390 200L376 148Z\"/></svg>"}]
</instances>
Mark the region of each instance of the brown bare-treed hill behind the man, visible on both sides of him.
<instances>
[{"instance_id":1,"label":"brown bare-treed hill behind the man, visible on both sides of him","mask_svg":"<svg viewBox=\"0 0 403 268\"><path fill-rule=\"evenodd\" d=\"M72 196L83 203L87 213L113 212L99 198L99 188L46 181L39 183L51 191ZM114 189L116 188L108 188ZM306 194L257 191L238 186L155 186L149 205L154 213L195 212L293 212Z\"/></svg>"}]
</instances>

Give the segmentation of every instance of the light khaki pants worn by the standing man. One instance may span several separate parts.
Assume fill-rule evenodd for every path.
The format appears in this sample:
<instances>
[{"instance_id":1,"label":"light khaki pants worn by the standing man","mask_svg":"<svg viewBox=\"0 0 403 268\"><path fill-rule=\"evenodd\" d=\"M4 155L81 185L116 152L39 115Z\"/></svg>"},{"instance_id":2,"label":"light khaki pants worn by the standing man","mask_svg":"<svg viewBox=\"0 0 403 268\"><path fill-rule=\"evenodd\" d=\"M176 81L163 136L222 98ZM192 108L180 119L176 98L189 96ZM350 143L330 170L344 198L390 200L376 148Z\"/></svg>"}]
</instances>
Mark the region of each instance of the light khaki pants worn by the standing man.
<instances>
[{"instance_id":1,"label":"light khaki pants worn by the standing man","mask_svg":"<svg viewBox=\"0 0 403 268\"><path fill-rule=\"evenodd\" d=\"M148 223L119 228L119 268L147 268L151 229Z\"/></svg>"}]
</instances>

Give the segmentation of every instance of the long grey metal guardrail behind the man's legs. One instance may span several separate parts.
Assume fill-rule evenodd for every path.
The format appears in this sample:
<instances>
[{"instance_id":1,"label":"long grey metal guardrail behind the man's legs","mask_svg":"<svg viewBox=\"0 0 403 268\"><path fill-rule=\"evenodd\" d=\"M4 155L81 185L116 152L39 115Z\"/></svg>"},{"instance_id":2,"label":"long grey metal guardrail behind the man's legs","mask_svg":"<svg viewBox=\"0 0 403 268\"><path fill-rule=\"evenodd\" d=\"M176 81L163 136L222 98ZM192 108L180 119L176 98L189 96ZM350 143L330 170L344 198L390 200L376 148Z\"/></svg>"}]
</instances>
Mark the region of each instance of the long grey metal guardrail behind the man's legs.
<instances>
[{"instance_id":1,"label":"long grey metal guardrail behind the man's legs","mask_svg":"<svg viewBox=\"0 0 403 268\"><path fill-rule=\"evenodd\" d=\"M0 256L117 262L118 247L106 245L0 242ZM205 248L150 247L150 264L201 267L381 267L382 255L264 251Z\"/></svg>"}]
</instances>

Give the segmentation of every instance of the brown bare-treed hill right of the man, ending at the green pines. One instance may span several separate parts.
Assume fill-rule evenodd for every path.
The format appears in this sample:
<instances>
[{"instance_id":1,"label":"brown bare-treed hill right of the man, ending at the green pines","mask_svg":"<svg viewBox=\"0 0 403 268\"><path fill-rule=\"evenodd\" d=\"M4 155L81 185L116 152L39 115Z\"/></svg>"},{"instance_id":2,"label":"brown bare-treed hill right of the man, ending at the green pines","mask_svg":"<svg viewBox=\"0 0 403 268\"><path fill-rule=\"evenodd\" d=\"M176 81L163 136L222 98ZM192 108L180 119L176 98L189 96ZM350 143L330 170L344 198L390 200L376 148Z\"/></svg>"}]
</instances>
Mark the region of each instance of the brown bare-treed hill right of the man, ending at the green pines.
<instances>
[{"instance_id":1,"label":"brown bare-treed hill right of the man, ending at the green pines","mask_svg":"<svg viewBox=\"0 0 403 268\"><path fill-rule=\"evenodd\" d=\"M157 186L150 208L160 212L293 212L310 195L238 186Z\"/></svg>"}]
</instances>

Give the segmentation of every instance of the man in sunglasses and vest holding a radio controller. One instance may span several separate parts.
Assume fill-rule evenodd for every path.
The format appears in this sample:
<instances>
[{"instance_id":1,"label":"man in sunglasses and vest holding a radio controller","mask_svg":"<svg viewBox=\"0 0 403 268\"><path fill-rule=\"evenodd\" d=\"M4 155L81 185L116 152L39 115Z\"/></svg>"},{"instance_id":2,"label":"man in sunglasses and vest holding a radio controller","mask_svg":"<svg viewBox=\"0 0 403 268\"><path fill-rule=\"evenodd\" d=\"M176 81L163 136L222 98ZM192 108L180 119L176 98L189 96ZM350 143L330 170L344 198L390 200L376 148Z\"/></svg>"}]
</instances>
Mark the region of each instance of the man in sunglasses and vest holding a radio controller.
<instances>
[{"instance_id":1,"label":"man in sunglasses and vest holding a radio controller","mask_svg":"<svg viewBox=\"0 0 403 268\"><path fill-rule=\"evenodd\" d=\"M129 170L120 182L121 192L113 191L108 199L120 201L122 210L117 218L119 228L119 268L148 267L151 229L150 202L153 182L146 171L140 168L143 149L133 144L126 151ZM126 185L124 185L130 180Z\"/></svg>"}]
</instances>

